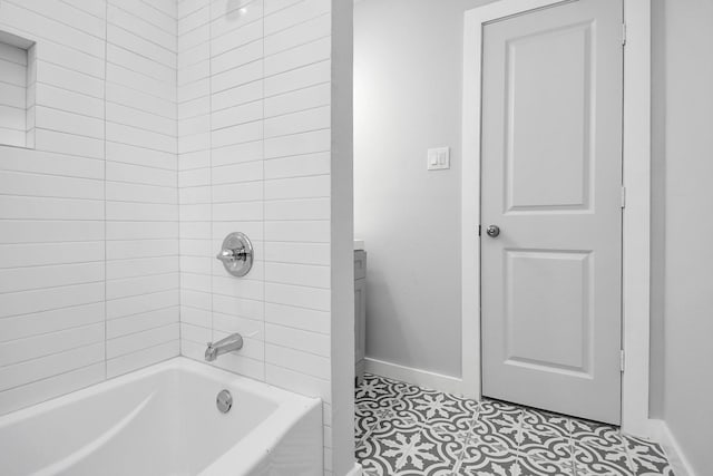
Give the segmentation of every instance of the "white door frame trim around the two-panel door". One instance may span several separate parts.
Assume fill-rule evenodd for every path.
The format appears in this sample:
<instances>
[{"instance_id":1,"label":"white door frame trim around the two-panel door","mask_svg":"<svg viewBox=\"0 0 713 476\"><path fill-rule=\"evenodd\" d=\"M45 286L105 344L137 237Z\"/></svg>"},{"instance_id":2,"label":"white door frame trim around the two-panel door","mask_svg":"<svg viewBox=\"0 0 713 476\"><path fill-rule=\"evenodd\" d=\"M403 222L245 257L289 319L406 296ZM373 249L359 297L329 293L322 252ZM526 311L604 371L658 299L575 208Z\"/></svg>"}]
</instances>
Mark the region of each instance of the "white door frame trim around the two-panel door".
<instances>
[{"instance_id":1,"label":"white door frame trim around the two-panel door","mask_svg":"<svg viewBox=\"0 0 713 476\"><path fill-rule=\"evenodd\" d=\"M577 0L498 0L465 13L461 175L462 392L481 398L480 130L485 23ZM624 0L622 428L648 436L651 258L651 0ZM476 290L473 292L473 290ZM475 344L473 344L475 343Z\"/></svg>"}]
</instances>

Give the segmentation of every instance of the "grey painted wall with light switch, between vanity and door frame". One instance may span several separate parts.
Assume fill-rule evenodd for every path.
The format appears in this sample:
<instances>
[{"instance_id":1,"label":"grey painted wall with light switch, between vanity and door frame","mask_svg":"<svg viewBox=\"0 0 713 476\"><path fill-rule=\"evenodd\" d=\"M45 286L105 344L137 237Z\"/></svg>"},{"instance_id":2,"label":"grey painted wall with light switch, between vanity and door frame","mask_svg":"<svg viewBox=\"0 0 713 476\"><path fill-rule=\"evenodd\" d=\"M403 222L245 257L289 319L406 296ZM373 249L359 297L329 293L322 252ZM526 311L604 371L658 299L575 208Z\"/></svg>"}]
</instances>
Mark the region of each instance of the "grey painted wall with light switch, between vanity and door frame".
<instances>
[{"instance_id":1,"label":"grey painted wall with light switch, between vanity and door frame","mask_svg":"<svg viewBox=\"0 0 713 476\"><path fill-rule=\"evenodd\" d=\"M354 9L354 222L369 253L367 356L460 377L463 11L484 0ZM428 172L429 147L451 168Z\"/></svg>"}]
</instances>

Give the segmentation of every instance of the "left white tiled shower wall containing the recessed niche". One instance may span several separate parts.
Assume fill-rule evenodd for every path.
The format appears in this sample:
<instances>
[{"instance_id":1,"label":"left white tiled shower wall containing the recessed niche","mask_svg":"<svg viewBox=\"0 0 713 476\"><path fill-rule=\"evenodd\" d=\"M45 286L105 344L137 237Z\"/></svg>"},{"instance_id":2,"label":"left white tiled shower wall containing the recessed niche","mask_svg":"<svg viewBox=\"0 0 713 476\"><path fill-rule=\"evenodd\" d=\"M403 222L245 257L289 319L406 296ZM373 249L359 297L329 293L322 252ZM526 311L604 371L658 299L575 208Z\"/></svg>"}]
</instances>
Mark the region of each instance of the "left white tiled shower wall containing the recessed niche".
<instances>
[{"instance_id":1,"label":"left white tiled shower wall containing the recessed niche","mask_svg":"<svg viewBox=\"0 0 713 476\"><path fill-rule=\"evenodd\" d=\"M0 146L0 414L178 354L176 4L2 0L35 149Z\"/></svg>"}]
</instances>

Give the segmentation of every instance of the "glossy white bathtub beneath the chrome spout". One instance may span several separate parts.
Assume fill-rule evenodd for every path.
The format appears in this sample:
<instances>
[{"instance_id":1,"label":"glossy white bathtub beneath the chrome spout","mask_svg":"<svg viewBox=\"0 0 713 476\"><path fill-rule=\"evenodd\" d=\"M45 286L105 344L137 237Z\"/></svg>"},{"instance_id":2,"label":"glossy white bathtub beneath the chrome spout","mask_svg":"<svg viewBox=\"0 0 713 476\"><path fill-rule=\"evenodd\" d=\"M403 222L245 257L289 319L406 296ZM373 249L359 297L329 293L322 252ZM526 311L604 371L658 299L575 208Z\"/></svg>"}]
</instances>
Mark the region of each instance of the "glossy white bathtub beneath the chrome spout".
<instances>
[{"instance_id":1,"label":"glossy white bathtub beneath the chrome spout","mask_svg":"<svg viewBox=\"0 0 713 476\"><path fill-rule=\"evenodd\" d=\"M322 475L321 402L176 358L0 417L0 475Z\"/></svg>"}]
</instances>

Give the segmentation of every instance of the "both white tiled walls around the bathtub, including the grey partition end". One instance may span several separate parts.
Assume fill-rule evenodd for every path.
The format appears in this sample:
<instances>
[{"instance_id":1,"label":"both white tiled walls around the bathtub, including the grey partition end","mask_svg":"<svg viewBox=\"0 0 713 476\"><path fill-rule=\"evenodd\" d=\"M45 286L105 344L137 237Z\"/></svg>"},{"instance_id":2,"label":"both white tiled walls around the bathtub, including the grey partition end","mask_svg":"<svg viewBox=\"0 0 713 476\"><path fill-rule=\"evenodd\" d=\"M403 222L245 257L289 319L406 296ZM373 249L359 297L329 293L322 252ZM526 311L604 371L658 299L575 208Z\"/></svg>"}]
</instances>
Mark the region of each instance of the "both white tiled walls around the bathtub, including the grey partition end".
<instances>
[{"instance_id":1,"label":"both white tiled walls around the bathtub, including the grey partition end","mask_svg":"<svg viewBox=\"0 0 713 476\"><path fill-rule=\"evenodd\" d=\"M241 332L215 365L321 397L325 470L351 469L351 11L2 0L37 42L37 149L0 148L0 414ZM233 231L244 279L214 258Z\"/></svg>"}]
</instances>

